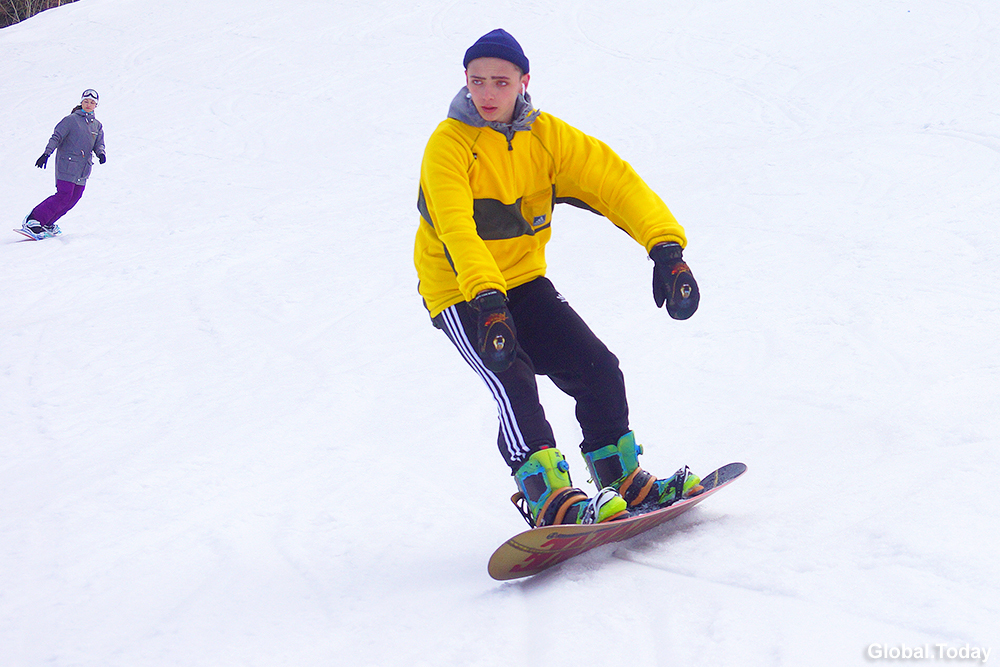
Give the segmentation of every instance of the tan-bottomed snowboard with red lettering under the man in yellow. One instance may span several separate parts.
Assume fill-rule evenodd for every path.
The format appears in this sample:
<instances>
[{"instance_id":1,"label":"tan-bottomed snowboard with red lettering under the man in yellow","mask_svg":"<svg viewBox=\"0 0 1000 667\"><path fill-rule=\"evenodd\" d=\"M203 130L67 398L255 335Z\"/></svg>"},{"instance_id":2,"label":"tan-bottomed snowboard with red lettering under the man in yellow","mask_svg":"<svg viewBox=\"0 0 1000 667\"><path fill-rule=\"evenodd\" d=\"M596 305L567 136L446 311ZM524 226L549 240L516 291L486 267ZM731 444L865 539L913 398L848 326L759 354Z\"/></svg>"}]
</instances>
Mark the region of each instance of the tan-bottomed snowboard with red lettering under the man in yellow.
<instances>
[{"instance_id":1,"label":"tan-bottomed snowboard with red lettering under the man in yellow","mask_svg":"<svg viewBox=\"0 0 1000 667\"><path fill-rule=\"evenodd\" d=\"M668 507L633 514L627 519L594 524L542 526L526 530L510 538L493 552L489 563L490 576L499 581L530 577L595 547L635 537L687 512L746 470L743 463L724 465L702 478L701 485L705 490L698 495L679 500Z\"/></svg>"}]
</instances>

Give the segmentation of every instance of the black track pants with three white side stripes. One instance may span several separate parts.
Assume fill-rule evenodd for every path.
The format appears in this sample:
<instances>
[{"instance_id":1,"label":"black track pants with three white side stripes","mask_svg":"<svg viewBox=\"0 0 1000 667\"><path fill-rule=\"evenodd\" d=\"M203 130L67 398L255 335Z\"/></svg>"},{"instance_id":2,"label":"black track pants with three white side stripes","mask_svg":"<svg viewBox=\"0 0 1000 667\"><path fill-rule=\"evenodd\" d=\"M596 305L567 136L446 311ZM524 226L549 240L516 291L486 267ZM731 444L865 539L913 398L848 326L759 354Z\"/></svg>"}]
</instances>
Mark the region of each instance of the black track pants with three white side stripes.
<instances>
[{"instance_id":1,"label":"black track pants with three white side stripes","mask_svg":"<svg viewBox=\"0 0 1000 667\"><path fill-rule=\"evenodd\" d=\"M517 470L533 452L555 446L552 427L538 401L536 375L546 375L576 399L584 451L618 441L628 432L625 379L618 358L576 314L547 278L507 293L517 327L517 357L502 373L488 370L476 354L476 313L459 303L434 318L489 388L500 415L500 453Z\"/></svg>"}]
</instances>

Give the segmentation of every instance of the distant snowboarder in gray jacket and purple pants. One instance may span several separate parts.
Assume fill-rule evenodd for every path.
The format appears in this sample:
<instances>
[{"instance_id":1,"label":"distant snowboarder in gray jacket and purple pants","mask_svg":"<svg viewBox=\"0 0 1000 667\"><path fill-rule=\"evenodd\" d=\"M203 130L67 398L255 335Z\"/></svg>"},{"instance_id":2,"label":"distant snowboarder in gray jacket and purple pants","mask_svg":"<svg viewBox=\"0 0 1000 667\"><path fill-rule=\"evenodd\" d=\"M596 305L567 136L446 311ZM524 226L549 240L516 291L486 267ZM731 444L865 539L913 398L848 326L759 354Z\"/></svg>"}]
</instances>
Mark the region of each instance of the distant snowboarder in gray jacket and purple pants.
<instances>
[{"instance_id":1,"label":"distant snowboarder in gray jacket and purple pants","mask_svg":"<svg viewBox=\"0 0 1000 667\"><path fill-rule=\"evenodd\" d=\"M56 221L76 206L93 168L91 155L101 164L107 160L104 150L104 127L94 116L97 91L83 91L80 105L59 121L45 152L35 166L45 169L49 157L56 154L56 193L32 209L21 224L22 230L36 239L61 234Z\"/></svg>"}]
</instances>

